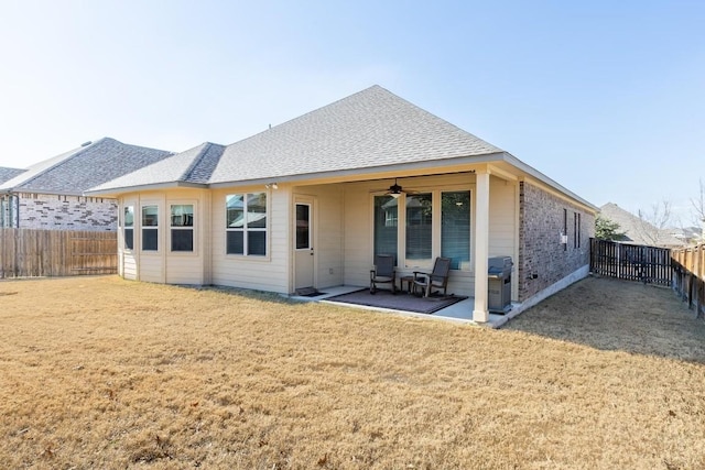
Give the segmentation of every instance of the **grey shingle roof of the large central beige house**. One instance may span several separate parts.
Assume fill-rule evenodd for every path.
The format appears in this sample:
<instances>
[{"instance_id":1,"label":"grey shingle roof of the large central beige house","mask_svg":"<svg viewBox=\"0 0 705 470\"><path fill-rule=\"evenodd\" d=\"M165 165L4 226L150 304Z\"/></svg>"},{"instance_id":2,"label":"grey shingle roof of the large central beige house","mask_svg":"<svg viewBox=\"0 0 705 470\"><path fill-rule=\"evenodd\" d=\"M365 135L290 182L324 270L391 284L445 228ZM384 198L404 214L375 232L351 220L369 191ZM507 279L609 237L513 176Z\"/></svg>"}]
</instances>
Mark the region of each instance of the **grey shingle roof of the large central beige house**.
<instances>
[{"instance_id":1,"label":"grey shingle roof of the large central beige house","mask_svg":"<svg viewBox=\"0 0 705 470\"><path fill-rule=\"evenodd\" d=\"M91 192L167 183L242 183L499 152L373 86L228 146L202 144Z\"/></svg>"}]
</instances>

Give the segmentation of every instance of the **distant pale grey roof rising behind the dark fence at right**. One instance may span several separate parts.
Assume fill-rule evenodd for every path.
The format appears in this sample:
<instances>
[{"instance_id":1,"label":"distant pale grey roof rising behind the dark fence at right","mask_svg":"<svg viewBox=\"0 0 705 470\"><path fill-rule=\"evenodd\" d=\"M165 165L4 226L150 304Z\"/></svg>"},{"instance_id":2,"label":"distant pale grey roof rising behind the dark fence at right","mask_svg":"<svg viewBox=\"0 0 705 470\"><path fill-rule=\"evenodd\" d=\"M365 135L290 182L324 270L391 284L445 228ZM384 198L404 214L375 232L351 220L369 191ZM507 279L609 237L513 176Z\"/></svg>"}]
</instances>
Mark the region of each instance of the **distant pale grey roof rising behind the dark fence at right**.
<instances>
[{"instance_id":1,"label":"distant pale grey roof rising behind the dark fence at right","mask_svg":"<svg viewBox=\"0 0 705 470\"><path fill-rule=\"evenodd\" d=\"M607 203L599 210L603 218L619 225L619 231L625 233L623 240L619 241L625 243L661 248L680 248L686 244L685 240L673 234L673 230L654 227L614 203Z\"/></svg>"}]
</instances>

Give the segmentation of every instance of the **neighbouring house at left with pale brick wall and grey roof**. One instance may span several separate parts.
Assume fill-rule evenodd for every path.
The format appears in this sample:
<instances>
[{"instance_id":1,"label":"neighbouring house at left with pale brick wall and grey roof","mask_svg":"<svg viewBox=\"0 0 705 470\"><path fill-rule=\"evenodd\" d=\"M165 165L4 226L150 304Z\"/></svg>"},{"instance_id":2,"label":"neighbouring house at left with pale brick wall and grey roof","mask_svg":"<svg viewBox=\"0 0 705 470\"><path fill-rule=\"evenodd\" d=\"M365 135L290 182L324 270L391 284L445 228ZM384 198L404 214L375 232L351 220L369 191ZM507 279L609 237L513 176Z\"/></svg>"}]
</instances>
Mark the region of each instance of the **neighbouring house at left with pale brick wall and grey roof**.
<instances>
[{"instance_id":1,"label":"neighbouring house at left with pale brick wall and grey roof","mask_svg":"<svg viewBox=\"0 0 705 470\"><path fill-rule=\"evenodd\" d=\"M170 155L104 138L40 162L0 183L0 228L116 230L116 200L84 192Z\"/></svg>"}]
</instances>

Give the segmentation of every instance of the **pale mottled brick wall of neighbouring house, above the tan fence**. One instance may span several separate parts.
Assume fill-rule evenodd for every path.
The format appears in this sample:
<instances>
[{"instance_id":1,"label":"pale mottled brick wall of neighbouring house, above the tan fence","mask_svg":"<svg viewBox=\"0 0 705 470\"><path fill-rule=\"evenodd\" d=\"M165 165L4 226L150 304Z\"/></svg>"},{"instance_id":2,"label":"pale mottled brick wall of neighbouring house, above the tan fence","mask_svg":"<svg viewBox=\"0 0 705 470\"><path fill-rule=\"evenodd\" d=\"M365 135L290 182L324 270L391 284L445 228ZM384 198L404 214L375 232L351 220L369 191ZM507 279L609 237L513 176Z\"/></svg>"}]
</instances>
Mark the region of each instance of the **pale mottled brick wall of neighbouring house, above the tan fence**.
<instances>
[{"instance_id":1,"label":"pale mottled brick wall of neighbouring house, above the tan fence","mask_svg":"<svg viewBox=\"0 0 705 470\"><path fill-rule=\"evenodd\" d=\"M19 196L19 226L22 229L117 229L118 206L115 199L26 193Z\"/></svg>"}]
</instances>

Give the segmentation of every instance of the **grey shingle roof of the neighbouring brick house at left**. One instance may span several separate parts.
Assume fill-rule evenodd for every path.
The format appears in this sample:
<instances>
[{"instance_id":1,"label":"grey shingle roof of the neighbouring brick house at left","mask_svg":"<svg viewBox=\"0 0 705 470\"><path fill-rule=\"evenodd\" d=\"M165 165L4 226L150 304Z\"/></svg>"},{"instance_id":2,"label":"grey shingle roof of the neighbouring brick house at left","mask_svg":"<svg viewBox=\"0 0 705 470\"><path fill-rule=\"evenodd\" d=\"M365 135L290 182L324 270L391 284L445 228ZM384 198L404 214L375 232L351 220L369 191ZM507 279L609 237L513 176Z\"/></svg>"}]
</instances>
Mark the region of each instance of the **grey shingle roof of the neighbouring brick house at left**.
<instances>
[{"instance_id":1,"label":"grey shingle roof of the neighbouring brick house at left","mask_svg":"<svg viewBox=\"0 0 705 470\"><path fill-rule=\"evenodd\" d=\"M80 195L170 155L173 153L104 138L31 166L0 185L0 190Z\"/></svg>"}]
</instances>

